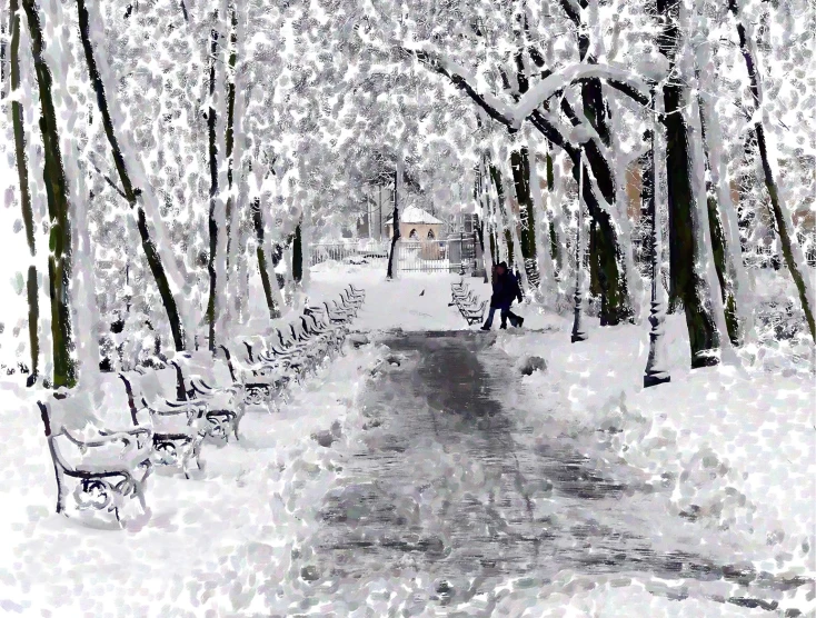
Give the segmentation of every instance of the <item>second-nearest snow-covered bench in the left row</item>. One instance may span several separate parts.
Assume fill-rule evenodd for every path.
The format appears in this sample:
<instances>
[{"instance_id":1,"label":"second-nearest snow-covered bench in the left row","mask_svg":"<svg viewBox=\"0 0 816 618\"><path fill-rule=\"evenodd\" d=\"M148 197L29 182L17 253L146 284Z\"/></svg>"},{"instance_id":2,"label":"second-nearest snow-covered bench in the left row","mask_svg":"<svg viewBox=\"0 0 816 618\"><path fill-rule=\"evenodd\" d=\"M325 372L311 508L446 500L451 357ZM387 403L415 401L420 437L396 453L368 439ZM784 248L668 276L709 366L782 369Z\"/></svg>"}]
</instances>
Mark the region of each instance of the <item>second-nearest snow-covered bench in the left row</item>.
<instances>
[{"instance_id":1,"label":"second-nearest snow-covered bench in the left row","mask_svg":"<svg viewBox=\"0 0 816 618\"><path fill-rule=\"evenodd\" d=\"M201 469L201 445L209 433L206 402L189 401L177 386L176 370L137 368L119 373L133 418L150 415L155 466L173 467L190 478L191 464Z\"/></svg>"}]
</instances>

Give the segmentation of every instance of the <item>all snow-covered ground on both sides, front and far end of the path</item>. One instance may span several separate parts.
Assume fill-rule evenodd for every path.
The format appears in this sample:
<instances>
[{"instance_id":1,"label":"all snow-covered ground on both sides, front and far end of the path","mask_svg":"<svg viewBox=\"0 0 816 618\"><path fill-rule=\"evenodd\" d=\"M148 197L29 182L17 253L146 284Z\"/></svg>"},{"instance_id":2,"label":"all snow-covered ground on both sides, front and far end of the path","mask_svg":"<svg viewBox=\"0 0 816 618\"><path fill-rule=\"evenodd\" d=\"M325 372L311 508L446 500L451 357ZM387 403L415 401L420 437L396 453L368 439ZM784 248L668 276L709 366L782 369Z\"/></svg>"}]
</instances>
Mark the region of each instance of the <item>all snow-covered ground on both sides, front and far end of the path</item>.
<instances>
[{"instance_id":1,"label":"all snow-covered ground on both sides, front and far end of the path","mask_svg":"<svg viewBox=\"0 0 816 618\"><path fill-rule=\"evenodd\" d=\"M324 266L312 272L314 299L350 280L367 290L357 330L449 330L467 327L447 307L457 276L401 275ZM468 278L480 298L489 288ZM421 292L425 293L421 293ZM727 539L735 564L786 577L816 576L816 389L807 358L768 366L689 371L681 317L669 317L673 381L641 388L645 325L600 329L569 342L570 321L519 312L521 331L498 335L511 362L529 355L547 370L521 380L508 402L530 418L550 418L564 432L594 436L610 460L670 488L667 508L700 542ZM498 327L498 320L495 328ZM765 348L763 348L765 349ZM762 352L762 350L759 350ZM195 480L153 475L151 518L123 531L82 527L53 512L54 482L37 393L3 383L0 420L0 608L43 616L273 616L331 614L331 590L308 581L300 542L319 525L316 509L341 475L342 450L359 439L354 406L360 375L384 350L367 346L334 362L277 415L250 412L242 439L206 447ZM773 357L773 355L770 355ZM770 370L767 370L770 369ZM535 425L535 423L533 423ZM331 442L334 448L319 446ZM535 440L536 436L531 435ZM736 548L736 549L735 549ZM350 615L384 616L411 608L411 590L430 582L397 581L361 591ZM808 587L802 587L803 594ZM812 589L812 587L810 587ZM561 574L547 589L524 580L470 599L462 615L733 616L759 612L722 604L654 597L620 578ZM365 600L364 600L365 599ZM794 607L813 607L813 598ZM40 614L40 609L44 612ZM48 612L51 611L51 614ZM428 615L428 614L424 614Z\"/></svg>"}]
</instances>

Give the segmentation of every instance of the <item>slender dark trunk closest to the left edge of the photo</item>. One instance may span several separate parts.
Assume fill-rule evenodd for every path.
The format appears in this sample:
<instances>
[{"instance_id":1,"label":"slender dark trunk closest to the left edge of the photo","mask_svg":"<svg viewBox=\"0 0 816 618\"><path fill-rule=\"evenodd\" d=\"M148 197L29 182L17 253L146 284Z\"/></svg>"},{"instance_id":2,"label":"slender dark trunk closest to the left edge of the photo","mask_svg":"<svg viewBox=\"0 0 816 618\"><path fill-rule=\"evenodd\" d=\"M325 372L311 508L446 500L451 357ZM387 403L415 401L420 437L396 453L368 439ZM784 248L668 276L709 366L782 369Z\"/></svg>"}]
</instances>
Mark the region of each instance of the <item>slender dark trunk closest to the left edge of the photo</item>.
<instances>
[{"instance_id":1,"label":"slender dark trunk closest to the left edge of the photo","mask_svg":"<svg viewBox=\"0 0 816 618\"><path fill-rule=\"evenodd\" d=\"M11 78L11 92L18 93L20 88L20 4L19 0L11 0L9 4L9 33L11 44L9 46L9 74ZM23 121L22 103L19 97L11 100L11 121L14 129L14 156L17 159L17 177L20 183L20 210L22 223L26 229L31 260L37 257L37 245L34 241L34 213L31 207L31 187L28 177L28 158L26 157L26 126ZM40 360L40 306L37 283L37 267L31 263L27 277L28 298L28 330L29 350L31 352L31 372L27 383L33 386L39 377Z\"/></svg>"}]
</instances>

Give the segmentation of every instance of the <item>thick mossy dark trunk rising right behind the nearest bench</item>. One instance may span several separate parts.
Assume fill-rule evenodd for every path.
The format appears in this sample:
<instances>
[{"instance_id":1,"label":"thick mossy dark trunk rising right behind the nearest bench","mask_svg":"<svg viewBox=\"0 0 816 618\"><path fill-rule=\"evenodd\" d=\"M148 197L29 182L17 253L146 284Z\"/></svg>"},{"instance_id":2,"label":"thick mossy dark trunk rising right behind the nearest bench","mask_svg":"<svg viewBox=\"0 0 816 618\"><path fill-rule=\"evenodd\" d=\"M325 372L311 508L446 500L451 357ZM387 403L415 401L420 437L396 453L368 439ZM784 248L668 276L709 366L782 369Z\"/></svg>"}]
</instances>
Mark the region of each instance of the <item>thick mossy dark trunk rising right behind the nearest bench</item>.
<instances>
[{"instance_id":1,"label":"thick mossy dark trunk rising right behind the nearest bench","mask_svg":"<svg viewBox=\"0 0 816 618\"><path fill-rule=\"evenodd\" d=\"M44 157L43 180L50 219L48 277L51 298L51 342L53 386L71 388L77 383L77 368L71 329L69 281L71 278L71 226L62 152L59 144L57 112L52 98L51 71L43 58L44 42L39 9L34 0L22 0L31 36L31 51L40 97L40 132ZM30 275L29 275L30 276ZM30 285L30 283L29 283ZM31 293L29 291L29 298Z\"/></svg>"}]
</instances>

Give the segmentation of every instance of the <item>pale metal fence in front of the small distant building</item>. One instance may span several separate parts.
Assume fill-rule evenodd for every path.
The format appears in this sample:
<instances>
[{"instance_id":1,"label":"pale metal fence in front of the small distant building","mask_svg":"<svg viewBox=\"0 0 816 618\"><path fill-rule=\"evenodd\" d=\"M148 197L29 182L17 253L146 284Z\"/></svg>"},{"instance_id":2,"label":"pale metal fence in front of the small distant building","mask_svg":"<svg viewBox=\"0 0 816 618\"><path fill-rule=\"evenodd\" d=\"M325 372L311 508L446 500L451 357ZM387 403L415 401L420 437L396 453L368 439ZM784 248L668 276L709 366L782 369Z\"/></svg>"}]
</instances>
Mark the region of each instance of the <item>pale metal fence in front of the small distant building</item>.
<instances>
[{"instance_id":1,"label":"pale metal fence in front of the small distant building","mask_svg":"<svg viewBox=\"0 0 816 618\"><path fill-rule=\"evenodd\" d=\"M388 261L389 241L317 243L311 246L311 265L334 260L345 263L378 265ZM474 238L447 240L400 239L397 243L396 268L402 272L465 272L480 269Z\"/></svg>"}]
</instances>

